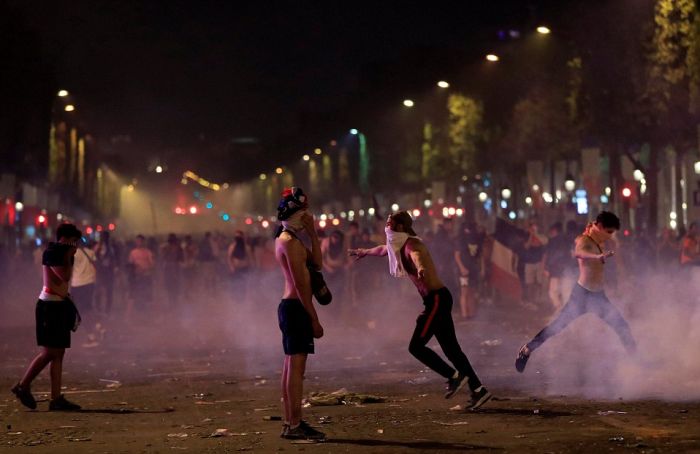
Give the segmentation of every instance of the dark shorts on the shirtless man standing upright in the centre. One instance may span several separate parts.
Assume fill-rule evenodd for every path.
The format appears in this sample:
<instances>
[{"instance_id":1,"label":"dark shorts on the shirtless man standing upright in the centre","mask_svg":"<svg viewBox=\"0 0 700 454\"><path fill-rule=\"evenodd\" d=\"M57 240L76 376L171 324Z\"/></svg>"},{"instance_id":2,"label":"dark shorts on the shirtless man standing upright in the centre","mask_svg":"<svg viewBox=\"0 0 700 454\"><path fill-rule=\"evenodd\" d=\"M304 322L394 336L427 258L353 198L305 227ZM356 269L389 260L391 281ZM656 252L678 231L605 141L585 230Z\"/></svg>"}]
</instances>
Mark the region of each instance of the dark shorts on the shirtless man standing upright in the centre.
<instances>
[{"instance_id":1,"label":"dark shorts on the shirtless man standing upright in the centre","mask_svg":"<svg viewBox=\"0 0 700 454\"><path fill-rule=\"evenodd\" d=\"M277 308L285 355L314 353L314 331L311 317L301 301L283 299Z\"/></svg>"}]
</instances>

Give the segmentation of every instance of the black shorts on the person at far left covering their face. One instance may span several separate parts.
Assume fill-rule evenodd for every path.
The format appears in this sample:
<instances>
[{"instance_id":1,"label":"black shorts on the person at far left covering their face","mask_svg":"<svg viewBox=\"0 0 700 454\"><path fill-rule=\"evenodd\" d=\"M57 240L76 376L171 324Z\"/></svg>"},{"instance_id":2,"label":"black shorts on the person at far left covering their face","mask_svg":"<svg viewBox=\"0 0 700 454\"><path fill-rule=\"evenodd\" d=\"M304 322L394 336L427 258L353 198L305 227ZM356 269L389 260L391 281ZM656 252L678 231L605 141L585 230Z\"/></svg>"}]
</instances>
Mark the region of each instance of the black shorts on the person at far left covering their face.
<instances>
[{"instance_id":1,"label":"black shorts on the person at far left covering their face","mask_svg":"<svg viewBox=\"0 0 700 454\"><path fill-rule=\"evenodd\" d=\"M68 300L36 302L36 343L41 347L70 348L75 309Z\"/></svg>"}]
</instances>

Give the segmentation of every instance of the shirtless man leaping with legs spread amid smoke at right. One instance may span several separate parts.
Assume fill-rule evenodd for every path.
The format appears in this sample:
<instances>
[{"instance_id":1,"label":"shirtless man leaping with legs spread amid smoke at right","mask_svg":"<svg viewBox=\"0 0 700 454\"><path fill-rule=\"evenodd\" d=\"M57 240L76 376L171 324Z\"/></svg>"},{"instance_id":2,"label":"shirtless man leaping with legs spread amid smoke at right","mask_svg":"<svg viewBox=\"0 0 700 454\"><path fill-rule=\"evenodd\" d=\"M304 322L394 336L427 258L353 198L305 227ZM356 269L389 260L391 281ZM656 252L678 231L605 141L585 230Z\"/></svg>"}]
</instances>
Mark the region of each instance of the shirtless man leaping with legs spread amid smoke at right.
<instances>
[{"instance_id":1,"label":"shirtless man leaping with legs spread amid smoke at right","mask_svg":"<svg viewBox=\"0 0 700 454\"><path fill-rule=\"evenodd\" d=\"M615 330L629 353L636 349L630 327L615 306L610 303L603 290L605 260L612 257L613 251L603 251L604 243L620 229L620 220L613 213L602 211L593 224L576 238L575 256L578 259L579 279L557 318L527 344L523 345L515 360L518 372L525 365L532 352L547 339L566 328L578 317L592 312Z\"/></svg>"}]
</instances>

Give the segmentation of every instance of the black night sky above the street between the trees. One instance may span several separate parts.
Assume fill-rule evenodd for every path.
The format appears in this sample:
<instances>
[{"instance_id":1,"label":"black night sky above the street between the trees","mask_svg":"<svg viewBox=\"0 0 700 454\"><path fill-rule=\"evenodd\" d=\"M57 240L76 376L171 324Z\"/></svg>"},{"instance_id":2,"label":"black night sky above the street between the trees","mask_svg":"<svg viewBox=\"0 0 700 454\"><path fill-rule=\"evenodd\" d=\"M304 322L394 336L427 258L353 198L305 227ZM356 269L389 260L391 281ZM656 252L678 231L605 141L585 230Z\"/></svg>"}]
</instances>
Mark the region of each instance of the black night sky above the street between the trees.
<instances>
[{"instance_id":1,"label":"black night sky above the street between the trees","mask_svg":"<svg viewBox=\"0 0 700 454\"><path fill-rule=\"evenodd\" d=\"M373 64L431 49L482 55L498 28L532 26L561 3L7 2L99 138L156 147L294 136L302 114L343 111L366 91Z\"/></svg>"}]
</instances>

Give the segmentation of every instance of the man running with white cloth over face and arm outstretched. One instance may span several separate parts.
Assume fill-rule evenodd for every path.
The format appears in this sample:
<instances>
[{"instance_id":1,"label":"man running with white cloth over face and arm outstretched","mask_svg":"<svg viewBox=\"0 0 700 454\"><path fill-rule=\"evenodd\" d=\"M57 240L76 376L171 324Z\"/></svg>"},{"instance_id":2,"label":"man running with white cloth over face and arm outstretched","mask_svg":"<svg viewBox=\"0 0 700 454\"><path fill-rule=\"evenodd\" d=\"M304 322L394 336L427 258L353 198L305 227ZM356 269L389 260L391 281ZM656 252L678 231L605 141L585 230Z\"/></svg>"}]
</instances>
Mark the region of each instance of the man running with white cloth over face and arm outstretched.
<instances>
[{"instance_id":1,"label":"man running with white cloth over face and arm outstretched","mask_svg":"<svg viewBox=\"0 0 700 454\"><path fill-rule=\"evenodd\" d=\"M371 249L350 249L351 256L389 256L389 271L394 277L407 276L423 297L425 310L418 316L416 329L408 351L420 362L447 379L445 398L454 396L465 384L469 384L471 401L467 408L476 410L491 399L491 393L481 384L467 356L462 352L452 321L452 295L435 271L435 264L428 248L412 228L413 219L406 211L389 216L384 229L386 245ZM447 364L427 347L435 336L442 351L454 367Z\"/></svg>"}]
</instances>

